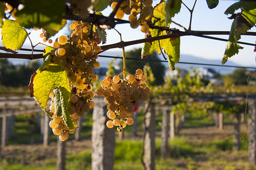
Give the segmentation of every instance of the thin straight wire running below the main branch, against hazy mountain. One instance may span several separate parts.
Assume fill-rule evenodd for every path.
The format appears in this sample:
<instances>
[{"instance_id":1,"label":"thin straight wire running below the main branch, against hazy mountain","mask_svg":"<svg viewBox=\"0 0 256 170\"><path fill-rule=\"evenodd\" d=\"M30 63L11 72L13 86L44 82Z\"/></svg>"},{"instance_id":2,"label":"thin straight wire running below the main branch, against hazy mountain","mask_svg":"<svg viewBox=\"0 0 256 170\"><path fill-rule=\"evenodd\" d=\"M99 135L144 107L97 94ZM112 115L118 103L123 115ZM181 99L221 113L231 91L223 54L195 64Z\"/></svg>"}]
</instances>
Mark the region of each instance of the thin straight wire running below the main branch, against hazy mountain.
<instances>
[{"instance_id":1,"label":"thin straight wire running below the main branch, against hazy mountain","mask_svg":"<svg viewBox=\"0 0 256 170\"><path fill-rule=\"evenodd\" d=\"M122 59L122 57L104 56L104 55L99 55L98 57ZM126 59L140 60L140 61L151 61L151 62L168 62L166 60L157 60L157 59L139 59L139 58L129 58L129 57L126 57ZM205 65L205 66L220 66L220 67L236 67L236 68L244 68L244 69L256 69L256 67L230 66L230 65L214 65L214 64L208 64L208 63L196 63L196 62L178 62L178 63L181 63L181 64L191 64L191 65Z\"/></svg>"}]
</instances>

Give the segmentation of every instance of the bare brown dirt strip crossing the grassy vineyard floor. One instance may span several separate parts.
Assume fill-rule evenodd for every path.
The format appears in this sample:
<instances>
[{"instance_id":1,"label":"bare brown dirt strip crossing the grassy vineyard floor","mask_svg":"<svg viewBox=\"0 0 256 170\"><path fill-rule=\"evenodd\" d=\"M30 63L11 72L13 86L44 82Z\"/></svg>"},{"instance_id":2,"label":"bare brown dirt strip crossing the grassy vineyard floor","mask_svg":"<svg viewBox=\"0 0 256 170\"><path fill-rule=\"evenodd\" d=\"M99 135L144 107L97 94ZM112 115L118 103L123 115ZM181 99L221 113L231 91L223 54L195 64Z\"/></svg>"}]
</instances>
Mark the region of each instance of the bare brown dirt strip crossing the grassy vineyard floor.
<instances>
[{"instance_id":1,"label":"bare brown dirt strip crossing the grassy vineyard floor","mask_svg":"<svg viewBox=\"0 0 256 170\"><path fill-rule=\"evenodd\" d=\"M245 133L245 131L246 126L242 125L241 133ZM225 125L224 130L219 130L214 126L185 128L180 130L180 135L183 135L185 140L188 140L189 142L209 142L214 139L226 139L232 134L233 125ZM156 136L160 137L160 132L157 132ZM141 135L138 135L138 137L126 135L125 138L140 139ZM92 145L90 137L82 139L81 141L72 140L67 141L66 143L67 154L77 154L84 150L90 150ZM1 148L1 158L11 162L24 164L30 164L31 162L40 163L45 159L56 158L56 143L52 142L48 147L43 147L42 144L5 146Z\"/></svg>"}]
</instances>

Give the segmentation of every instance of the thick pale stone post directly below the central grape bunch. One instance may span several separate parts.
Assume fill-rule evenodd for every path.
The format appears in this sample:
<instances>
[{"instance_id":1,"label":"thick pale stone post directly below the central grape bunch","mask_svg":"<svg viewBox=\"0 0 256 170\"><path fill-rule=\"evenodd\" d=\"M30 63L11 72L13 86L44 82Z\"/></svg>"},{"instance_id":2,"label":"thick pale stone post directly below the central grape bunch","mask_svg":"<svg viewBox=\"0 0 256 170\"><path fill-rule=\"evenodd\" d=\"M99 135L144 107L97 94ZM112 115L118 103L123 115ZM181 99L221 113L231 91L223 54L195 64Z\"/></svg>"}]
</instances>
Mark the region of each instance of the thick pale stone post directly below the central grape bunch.
<instances>
[{"instance_id":1,"label":"thick pale stone post directly below the central grape bunch","mask_svg":"<svg viewBox=\"0 0 256 170\"><path fill-rule=\"evenodd\" d=\"M108 109L102 97L93 98L92 169L108 170L114 166L115 129L107 128Z\"/></svg>"}]
</instances>

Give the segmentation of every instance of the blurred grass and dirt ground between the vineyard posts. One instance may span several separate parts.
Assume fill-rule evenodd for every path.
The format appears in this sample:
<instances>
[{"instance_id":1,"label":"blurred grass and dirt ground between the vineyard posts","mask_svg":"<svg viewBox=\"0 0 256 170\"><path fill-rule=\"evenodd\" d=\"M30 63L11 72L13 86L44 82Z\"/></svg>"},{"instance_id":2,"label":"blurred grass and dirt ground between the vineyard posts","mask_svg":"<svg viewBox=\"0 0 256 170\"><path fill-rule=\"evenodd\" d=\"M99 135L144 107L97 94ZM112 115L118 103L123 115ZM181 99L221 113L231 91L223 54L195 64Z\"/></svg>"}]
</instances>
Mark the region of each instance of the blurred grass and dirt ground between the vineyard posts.
<instances>
[{"instance_id":1,"label":"blurred grass and dirt ground between the vineyard posts","mask_svg":"<svg viewBox=\"0 0 256 170\"><path fill-rule=\"evenodd\" d=\"M225 119L224 130L212 126L206 117L189 119L180 134L168 143L169 155L160 158L160 117L156 117L156 169L254 169L247 161L247 136L241 141L241 151L233 152L233 125L230 117ZM51 136L47 148L40 143L39 130L32 116L18 116L14 137L9 145L1 149L1 169L55 169L56 136ZM139 114L138 122L142 121ZM67 169L91 169L91 126L92 113L85 117L82 141L67 141ZM142 129L141 126L138 129ZM246 126L241 125L241 135ZM142 132L134 137L131 127L125 131L125 139L116 142L114 169L143 169Z\"/></svg>"}]
</instances>

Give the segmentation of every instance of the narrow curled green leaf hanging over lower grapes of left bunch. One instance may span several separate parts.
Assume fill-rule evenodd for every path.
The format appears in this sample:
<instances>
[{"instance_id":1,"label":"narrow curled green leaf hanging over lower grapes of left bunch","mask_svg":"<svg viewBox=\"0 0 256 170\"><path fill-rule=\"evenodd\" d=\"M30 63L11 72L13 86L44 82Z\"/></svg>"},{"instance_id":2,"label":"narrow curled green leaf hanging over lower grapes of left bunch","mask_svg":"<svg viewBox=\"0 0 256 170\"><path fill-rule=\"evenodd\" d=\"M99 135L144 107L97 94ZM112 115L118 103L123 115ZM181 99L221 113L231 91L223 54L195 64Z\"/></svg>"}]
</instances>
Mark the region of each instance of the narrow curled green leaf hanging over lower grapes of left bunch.
<instances>
[{"instance_id":1,"label":"narrow curled green leaf hanging over lower grapes of left bunch","mask_svg":"<svg viewBox=\"0 0 256 170\"><path fill-rule=\"evenodd\" d=\"M59 87L55 88L53 90L54 94L58 94L58 107L57 108L59 112L61 112L62 119L64 123L67 125L69 130L76 130L78 127L75 123L72 122L70 114L68 112L68 107L69 107L69 97L71 95L71 92L67 90L65 87ZM57 113L60 114L60 113Z\"/></svg>"}]
</instances>

